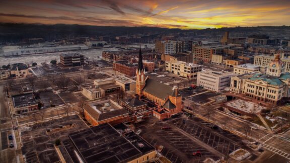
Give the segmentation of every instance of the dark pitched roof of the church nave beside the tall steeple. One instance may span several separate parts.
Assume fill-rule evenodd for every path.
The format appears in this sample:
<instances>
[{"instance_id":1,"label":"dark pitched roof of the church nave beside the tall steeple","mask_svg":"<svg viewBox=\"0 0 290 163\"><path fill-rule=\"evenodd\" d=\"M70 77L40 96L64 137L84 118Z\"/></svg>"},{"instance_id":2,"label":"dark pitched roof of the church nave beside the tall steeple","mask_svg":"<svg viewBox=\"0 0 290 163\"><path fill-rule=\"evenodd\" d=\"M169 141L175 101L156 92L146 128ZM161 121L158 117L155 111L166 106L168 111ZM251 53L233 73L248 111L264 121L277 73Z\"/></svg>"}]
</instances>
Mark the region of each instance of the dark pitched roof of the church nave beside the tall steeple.
<instances>
[{"instance_id":1,"label":"dark pitched roof of the church nave beside the tall steeple","mask_svg":"<svg viewBox=\"0 0 290 163\"><path fill-rule=\"evenodd\" d=\"M161 84L160 82L151 78L147 78L143 91L160 99L167 99L168 96L171 96L172 92L174 92L173 87Z\"/></svg>"}]
</instances>

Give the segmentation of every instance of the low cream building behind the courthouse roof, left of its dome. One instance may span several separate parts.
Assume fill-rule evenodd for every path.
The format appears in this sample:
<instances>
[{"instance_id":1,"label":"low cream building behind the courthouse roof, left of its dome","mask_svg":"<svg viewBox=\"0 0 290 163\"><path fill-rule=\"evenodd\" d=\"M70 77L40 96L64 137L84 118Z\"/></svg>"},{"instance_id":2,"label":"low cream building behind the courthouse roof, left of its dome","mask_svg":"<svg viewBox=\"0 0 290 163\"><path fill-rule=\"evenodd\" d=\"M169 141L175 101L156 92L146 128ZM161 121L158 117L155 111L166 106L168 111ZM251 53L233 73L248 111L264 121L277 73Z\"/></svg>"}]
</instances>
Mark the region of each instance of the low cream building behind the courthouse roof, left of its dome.
<instances>
[{"instance_id":1,"label":"low cream building behind the courthouse roof, left of its dome","mask_svg":"<svg viewBox=\"0 0 290 163\"><path fill-rule=\"evenodd\" d=\"M245 74L245 73L251 73L251 72L260 72L265 74L267 70L267 67L261 67L256 64L252 63L246 63L246 64L240 64L234 66L234 73L237 74Z\"/></svg>"}]
</instances>

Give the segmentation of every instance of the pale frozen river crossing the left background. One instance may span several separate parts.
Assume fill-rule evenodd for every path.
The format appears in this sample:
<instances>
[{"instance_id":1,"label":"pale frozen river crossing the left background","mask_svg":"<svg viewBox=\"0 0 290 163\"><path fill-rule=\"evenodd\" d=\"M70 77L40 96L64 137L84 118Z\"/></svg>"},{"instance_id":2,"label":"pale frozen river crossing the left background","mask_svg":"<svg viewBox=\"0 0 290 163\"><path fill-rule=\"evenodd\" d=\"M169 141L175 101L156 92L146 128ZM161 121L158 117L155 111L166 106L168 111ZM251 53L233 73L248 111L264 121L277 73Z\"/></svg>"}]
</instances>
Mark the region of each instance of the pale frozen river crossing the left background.
<instances>
[{"instance_id":1,"label":"pale frozen river crossing the left background","mask_svg":"<svg viewBox=\"0 0 290 163\"><path fill-rule=\"evenodd\" d=\"M142 44L141 47L144 48L144 46L147 45L147 47L154 48L154 44ZM138 47L139 45L127 45L124 47ZM116 51L119 50L118 48L112 47L112 48L102 48L102 49L90 49L90 50L79 50L79 51L66 51L66 52L56 52L56 53L45 53L45 54L33 54L33 55L22 55L17 57L0 57L0 66L7 65L7 64L13 64L13 63L26 63L26 64L32 64L33 62L36 62L37 64L40 64L41 62L50 62L50 60L55 59L59 61L59 54L68 54L68 53L80 53L83 54L85 57L88 57L90 59L98 58L98 56L102 57L102 52L106 50L112 50Z\"/></svg>"}]
</instances>

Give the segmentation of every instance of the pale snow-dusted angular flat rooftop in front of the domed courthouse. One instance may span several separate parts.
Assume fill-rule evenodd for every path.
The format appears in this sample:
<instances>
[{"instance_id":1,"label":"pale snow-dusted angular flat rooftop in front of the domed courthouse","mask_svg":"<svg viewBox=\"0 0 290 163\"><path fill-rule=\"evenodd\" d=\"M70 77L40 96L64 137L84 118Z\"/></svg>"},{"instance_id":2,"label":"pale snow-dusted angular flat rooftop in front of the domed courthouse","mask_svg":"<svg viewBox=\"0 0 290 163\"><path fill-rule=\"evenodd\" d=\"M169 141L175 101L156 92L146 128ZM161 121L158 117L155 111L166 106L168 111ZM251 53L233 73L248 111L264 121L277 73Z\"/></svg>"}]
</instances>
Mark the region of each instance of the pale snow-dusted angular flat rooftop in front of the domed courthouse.
<instances>
[{"instance_id":1,"label":"pale snow-dusted angular flat rooftop in front of the domed courthouse","mask_svg":"<svg viewBox=\"0 0 290 163\"><path fill-rule=\"evenodd\" d=\"M229 102L226 105L229 107L238 109L242 112L255 113L255 114L259 113L262 109L266 109L266 107L254 104L249 101L241 100L241 99Z\"/></svg>"}]
</instances>

